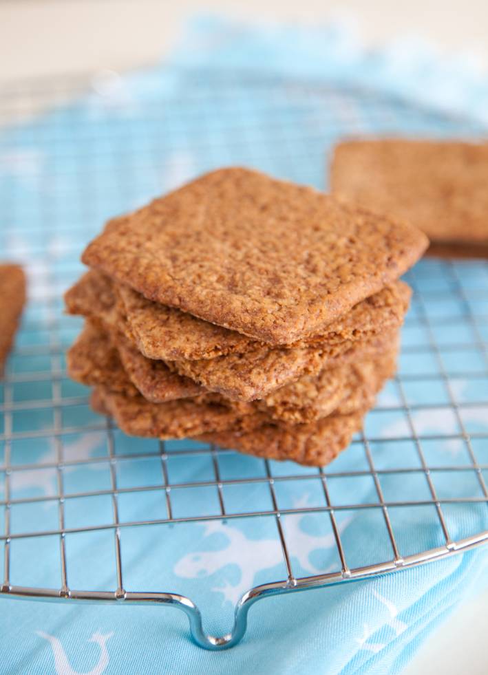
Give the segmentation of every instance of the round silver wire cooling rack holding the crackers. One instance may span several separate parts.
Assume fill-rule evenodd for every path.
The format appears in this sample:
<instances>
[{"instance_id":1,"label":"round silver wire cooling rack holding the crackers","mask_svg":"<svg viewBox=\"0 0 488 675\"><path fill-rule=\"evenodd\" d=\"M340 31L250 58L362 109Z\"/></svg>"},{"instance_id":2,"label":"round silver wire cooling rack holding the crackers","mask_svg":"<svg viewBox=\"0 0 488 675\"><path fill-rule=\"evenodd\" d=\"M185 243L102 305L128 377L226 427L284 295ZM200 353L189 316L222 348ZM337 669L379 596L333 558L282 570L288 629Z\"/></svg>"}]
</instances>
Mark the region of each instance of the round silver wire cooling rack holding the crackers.
<instances>
[{"instance_id":1,"label":"round silver wire cooling rack holding the crackers","mask_svg":"<svg viewBox=\"0 0 488 675\"><path fill-rule=\"evenodd\" d=\"M196 173L246 164L322 187L343 136L476 138L485 129L359 88L182 69L12 85L0 121L0 248L30 275L0 398L1 595L175 606L198 645L222 649L242 639L258 599L487 542L484 261L427 259L407 275L415 296L399 374L324 469L127 438L65 375L80 323L61 301L107 217ZM221 568L215 539L205 547L215 536L228 544ZM266 578L253 567L263 556ZM240 568L237 582L226 561ZM188 594L176 592L182 579ZM235 610L222 636L204 630L189 599L209 583Z\"/></svg>"}]
</instances>

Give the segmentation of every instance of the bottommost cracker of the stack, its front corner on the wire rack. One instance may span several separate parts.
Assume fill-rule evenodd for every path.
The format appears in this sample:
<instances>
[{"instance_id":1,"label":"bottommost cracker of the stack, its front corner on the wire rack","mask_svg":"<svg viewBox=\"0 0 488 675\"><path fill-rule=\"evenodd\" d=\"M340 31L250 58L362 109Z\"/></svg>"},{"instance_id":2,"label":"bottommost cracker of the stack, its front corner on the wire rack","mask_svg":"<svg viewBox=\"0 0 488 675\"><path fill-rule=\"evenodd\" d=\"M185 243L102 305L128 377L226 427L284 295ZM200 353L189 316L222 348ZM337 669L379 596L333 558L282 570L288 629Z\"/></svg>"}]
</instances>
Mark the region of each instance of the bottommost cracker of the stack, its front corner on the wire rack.
<instances>
[{"instance_id":1,"label":"bottommost cracker of the stack, its front corner on the wire rack","mask_svg":"<svg viewBox=\"0 0 488 675\"><path fill-rule=\"evenodd\" d=\"M365 410L329 417L306 425L263 425L251 431L206 433L199 440L273 460L293 460L321 467L348 447L361 429Z\"/></svg>"}]
</instances>

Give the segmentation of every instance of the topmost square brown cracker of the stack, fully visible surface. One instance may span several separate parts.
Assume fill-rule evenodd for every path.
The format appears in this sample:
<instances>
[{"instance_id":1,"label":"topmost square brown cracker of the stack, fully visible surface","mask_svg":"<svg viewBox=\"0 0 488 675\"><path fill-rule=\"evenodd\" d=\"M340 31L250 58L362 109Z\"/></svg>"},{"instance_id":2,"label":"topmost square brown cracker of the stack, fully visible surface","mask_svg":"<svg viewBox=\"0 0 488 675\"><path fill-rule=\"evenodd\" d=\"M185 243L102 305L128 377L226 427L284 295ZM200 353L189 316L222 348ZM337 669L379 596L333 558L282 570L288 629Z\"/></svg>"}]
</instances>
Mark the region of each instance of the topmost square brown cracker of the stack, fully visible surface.
<instances>
[{"instance_id":1,"label":"topmost square brown cracker of the stack, fully visible surface","mask_svg":"<svg viewBox=\"0 0 488 675\"><path fill-rule=\"evenodd\" d=\"M231 168L112 220L82 259L150 300L279 345L345 314L426 247L409 224Z\"/></svg>"}]
</instances>

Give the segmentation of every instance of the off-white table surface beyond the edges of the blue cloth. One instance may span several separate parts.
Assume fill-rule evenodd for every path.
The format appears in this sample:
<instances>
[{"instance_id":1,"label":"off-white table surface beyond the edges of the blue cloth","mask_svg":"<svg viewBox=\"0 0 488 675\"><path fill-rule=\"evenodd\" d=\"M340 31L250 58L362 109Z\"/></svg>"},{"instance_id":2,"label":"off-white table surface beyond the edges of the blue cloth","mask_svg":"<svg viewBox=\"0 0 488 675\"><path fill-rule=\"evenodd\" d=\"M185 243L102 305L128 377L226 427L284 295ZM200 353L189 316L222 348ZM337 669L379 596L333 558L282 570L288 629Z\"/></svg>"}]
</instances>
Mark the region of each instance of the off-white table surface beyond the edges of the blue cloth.
<instances>
[{"instance_id":1,"label":"off-white table surface beyond the edges of the blue cloth","mask_svg":"<svg viewBox=\"0 0 488 675\"><path fill-rule=\"evenodd\" d=\"M158 61L195 10L356 23L366 44L405 33L441 54L467 52L488 71L487 0L3 0L0 85L18 78L124 70ZM487 675L488 592L427 639L404 675Z\"/></svg>"}]
</instances>

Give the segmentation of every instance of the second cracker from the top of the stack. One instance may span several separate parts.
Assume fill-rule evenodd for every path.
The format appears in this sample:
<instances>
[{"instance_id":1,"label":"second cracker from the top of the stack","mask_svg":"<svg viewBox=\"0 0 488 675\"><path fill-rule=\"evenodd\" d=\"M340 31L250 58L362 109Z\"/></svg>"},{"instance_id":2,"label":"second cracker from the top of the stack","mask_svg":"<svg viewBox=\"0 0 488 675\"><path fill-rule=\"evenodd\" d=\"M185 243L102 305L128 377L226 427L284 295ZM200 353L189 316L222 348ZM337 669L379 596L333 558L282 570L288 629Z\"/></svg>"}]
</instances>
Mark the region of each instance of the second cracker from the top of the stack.
<instances>
[{"instance_id":1,"label":"second cracker from the top of the stack","mask_svg":"<svg viewBox=\"0 0 488 675\"><path fill-rule=\"evenodd\" d=\"M245 335L151 302L129 286L116 286L96 270L87 272L67 292L65 301L68 312L102 319L109 327L123 332L139 352L153 359L193 361L269 350L269 345ZM410 288L396 281L358 303L319 334L287 346L315 347L382 334L401 325L409 301Z\"/></svg>"}]
</instances>

